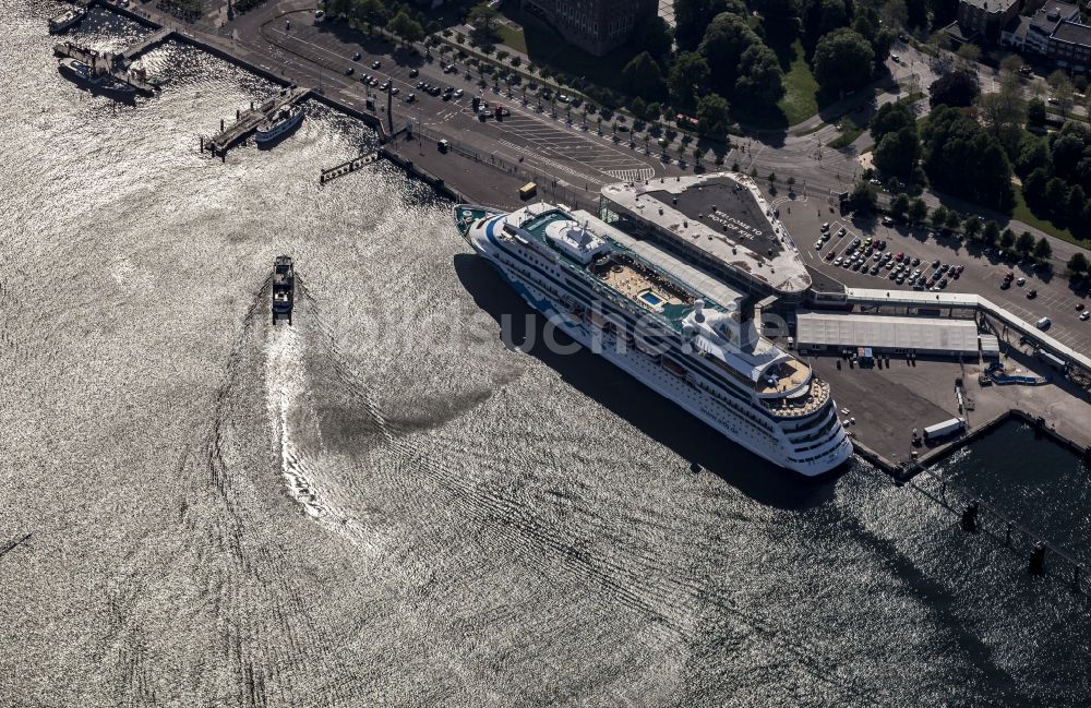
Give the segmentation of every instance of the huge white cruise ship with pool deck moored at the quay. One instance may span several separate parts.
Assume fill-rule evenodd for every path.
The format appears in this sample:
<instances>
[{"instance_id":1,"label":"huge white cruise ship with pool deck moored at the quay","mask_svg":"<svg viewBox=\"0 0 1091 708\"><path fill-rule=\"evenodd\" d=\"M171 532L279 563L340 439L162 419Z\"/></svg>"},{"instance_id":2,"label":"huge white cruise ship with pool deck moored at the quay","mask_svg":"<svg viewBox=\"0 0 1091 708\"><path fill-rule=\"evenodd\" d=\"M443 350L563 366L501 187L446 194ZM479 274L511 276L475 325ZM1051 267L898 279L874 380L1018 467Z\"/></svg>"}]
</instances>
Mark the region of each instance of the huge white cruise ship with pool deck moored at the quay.
<instances>
[{"instance_id":1,"label":"huge white cruise ship with pool deck moored at the quay","mask_svg":"<svg viewBox=\"0 0 1091 708\"><path fill-rule=\"evenodd\" d=\"M852 454L828 383L604 221L546 203L454 218L531 307L731 441L807 477Z\"/></svg>"}]
</instances>

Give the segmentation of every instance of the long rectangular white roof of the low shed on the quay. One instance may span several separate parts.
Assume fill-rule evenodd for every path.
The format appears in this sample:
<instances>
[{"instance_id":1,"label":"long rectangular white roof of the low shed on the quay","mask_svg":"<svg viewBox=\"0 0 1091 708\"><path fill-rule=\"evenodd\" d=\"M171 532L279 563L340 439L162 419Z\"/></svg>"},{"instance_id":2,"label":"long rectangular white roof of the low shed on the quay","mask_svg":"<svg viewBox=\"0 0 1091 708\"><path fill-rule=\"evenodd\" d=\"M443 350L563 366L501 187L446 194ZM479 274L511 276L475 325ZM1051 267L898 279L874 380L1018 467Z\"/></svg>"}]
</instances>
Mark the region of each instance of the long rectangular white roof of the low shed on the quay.
<instances>
[{"instance_id":1,"label":"long rectangular white roof of the low shed on the quay","mask_svg":"<svg viewBox=\"0 0 1091 708\"><path fill-rule=\"evenodd\" d=\"M978 353L973 320L799 312L795 321L800 345Z\"/></svg>"}]
</instances>

